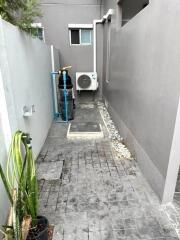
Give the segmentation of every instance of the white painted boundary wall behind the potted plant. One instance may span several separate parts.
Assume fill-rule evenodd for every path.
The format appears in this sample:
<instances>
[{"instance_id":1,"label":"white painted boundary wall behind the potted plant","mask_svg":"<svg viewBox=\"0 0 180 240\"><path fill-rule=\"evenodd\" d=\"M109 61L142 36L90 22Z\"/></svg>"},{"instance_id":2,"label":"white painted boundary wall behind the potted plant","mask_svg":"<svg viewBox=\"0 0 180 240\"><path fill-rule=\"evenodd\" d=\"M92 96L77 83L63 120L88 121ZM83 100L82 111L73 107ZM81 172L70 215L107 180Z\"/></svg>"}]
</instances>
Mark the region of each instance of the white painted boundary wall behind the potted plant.
<instances>
[{"instance_id":1,"label":"white painted boundary wall behind the potted plant","mask_svg":"<svg viewBox=\"0 0 180 240\"><path fill-rule=\"evenodd\" d=\"M56 63L57 64L57 63ZM58 63L59 64L59 63ZM5 166L11 135L29 132L36 158L53 119L51 49L0 19L0 162ZM24 118L24 106L35 113ZM0 181L0 224L5 222L7 201Z\"/></svg>"}]
</instances>

